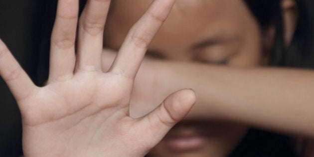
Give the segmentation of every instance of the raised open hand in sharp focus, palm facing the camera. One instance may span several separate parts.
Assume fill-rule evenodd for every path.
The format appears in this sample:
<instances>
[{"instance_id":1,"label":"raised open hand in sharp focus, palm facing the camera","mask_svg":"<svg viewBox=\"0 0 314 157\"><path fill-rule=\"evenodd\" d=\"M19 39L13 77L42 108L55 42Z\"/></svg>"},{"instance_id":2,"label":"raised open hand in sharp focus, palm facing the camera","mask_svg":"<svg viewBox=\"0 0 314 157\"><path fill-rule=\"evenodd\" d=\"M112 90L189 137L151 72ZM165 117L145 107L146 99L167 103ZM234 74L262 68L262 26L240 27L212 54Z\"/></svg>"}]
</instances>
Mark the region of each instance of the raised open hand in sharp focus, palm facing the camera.
<instances>
[{"instance_id":1,"label":"raised open hand in sharp focus, palm facing the camera","mask_svg":"<svg viewBox=\"0 0 314 157\"><path fill-rule=\"evenodd\" d=\"M32 83L0 41L0 75L21 111L25 157L144 156L187 114L195 102L191 90L173 93L142 118L129 116L134 78L174 2L153 1L104 73L102 40L110 0L88 0L77 48L78 0L59 0L45 87Z\"/></svg>"}]
</instances>

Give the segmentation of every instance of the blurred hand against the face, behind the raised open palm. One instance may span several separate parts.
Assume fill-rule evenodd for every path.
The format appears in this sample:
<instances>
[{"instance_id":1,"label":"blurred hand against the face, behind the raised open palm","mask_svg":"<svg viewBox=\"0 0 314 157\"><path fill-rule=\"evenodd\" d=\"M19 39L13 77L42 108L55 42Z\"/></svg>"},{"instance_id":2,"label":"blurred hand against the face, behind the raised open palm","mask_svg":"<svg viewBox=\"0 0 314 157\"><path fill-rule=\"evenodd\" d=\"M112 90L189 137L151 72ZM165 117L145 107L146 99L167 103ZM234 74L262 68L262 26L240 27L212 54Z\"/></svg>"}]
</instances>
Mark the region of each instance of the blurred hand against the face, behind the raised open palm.
<instances>
[{"instance_id":1,"label":"blurred hand against the face, behind the raised open palm","mask_svg":"<svg viewBox=\"0 0 314 157\"><path fill-rule=\"evenodd\" d=\"M113 63L117 52L111 49L103 50L102 68L107 71ZM132 97L130 101L130 116L138 118L147 115L154 110L160 101L167 95L180 89L170 87L167 84L169 79L175 78L175 75L169 76L167 70L171 68L169 61L144 58L141 67L136 75L133 85ZM167 85L166 85L167 84ZM165 86L166 85L166 86ZM163 87L160 89L160 87Z\"/></svg>"}]
</instances>

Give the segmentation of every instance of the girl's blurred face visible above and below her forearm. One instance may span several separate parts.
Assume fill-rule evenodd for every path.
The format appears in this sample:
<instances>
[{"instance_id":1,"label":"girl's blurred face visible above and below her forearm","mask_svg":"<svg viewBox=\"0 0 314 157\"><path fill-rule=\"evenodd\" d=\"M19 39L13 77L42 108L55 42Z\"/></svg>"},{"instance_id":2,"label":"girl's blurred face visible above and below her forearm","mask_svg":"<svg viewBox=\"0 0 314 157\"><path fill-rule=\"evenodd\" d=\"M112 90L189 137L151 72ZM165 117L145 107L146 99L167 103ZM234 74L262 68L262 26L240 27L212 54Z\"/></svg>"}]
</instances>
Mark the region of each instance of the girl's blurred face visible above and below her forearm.
<instances>
[{"instance_id":1,"label":"girl's blurred face visible above and below her forearm","mask_svg":"<svg viewBox=\"0 0 314 157\"><path fill-rule=\"evenodd\" d=\"M152 0L114 0L105 45L118 49ZM147 55L225 66L262 64L262 35L242 0L177 0ZM149 154L152 157L224 157L246 128L222 122L182 122Z\"/></svg>"}]
</instances>

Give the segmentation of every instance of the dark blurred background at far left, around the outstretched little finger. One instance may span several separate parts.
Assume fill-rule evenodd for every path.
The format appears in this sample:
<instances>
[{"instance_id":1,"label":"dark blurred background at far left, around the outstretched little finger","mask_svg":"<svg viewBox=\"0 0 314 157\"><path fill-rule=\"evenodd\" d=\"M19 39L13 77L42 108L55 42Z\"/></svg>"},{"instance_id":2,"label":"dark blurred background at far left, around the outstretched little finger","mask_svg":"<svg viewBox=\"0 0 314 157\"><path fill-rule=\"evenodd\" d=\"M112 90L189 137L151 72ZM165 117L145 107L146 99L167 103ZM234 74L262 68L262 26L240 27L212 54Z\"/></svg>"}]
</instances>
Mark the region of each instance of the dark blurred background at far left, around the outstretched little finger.
<instances>
[{"instance_id":1,"label":"dark blurred background at far left, around the outstretched little finger","mask_svg":"<svg viewBox=\"0 0 314 157\"><path fill-rule=\"evenodd\" d=\"M0 38L36 84L39 84L39 52L43 50L40 47L47 43L40 38L50 29L50 26L42 29L49 25L49 21L42 20L50 9L45 1L0 0ZM20 119L16 102L0 78L0 157L22 154Z\"/></svg>"}]
</instances>

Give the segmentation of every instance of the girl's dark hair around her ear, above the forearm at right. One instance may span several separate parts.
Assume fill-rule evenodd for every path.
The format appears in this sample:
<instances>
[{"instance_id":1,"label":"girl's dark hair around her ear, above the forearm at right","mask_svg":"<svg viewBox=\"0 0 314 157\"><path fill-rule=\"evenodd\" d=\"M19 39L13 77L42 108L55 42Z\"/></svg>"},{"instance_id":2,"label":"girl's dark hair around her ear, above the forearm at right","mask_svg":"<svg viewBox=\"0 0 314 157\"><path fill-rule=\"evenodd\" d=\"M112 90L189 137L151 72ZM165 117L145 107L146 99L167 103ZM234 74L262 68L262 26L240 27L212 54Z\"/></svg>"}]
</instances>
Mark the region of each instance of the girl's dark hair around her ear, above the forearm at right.
<instances>
[{"instance_id":1,"label":"girl's dark hair around her ear, above the forearm at right","mask_svg":"<svg viewBox=\"0 0 314 157\"><path fill-rule=\"evenodd\" d=\"M284 27L281 11L282 0L244 0L255 15L262 30L276 27L271 66L314 68L314 12L313 0L295 0L299 18L290 45L284 44Z\"/></svg>"}]
</instances>

